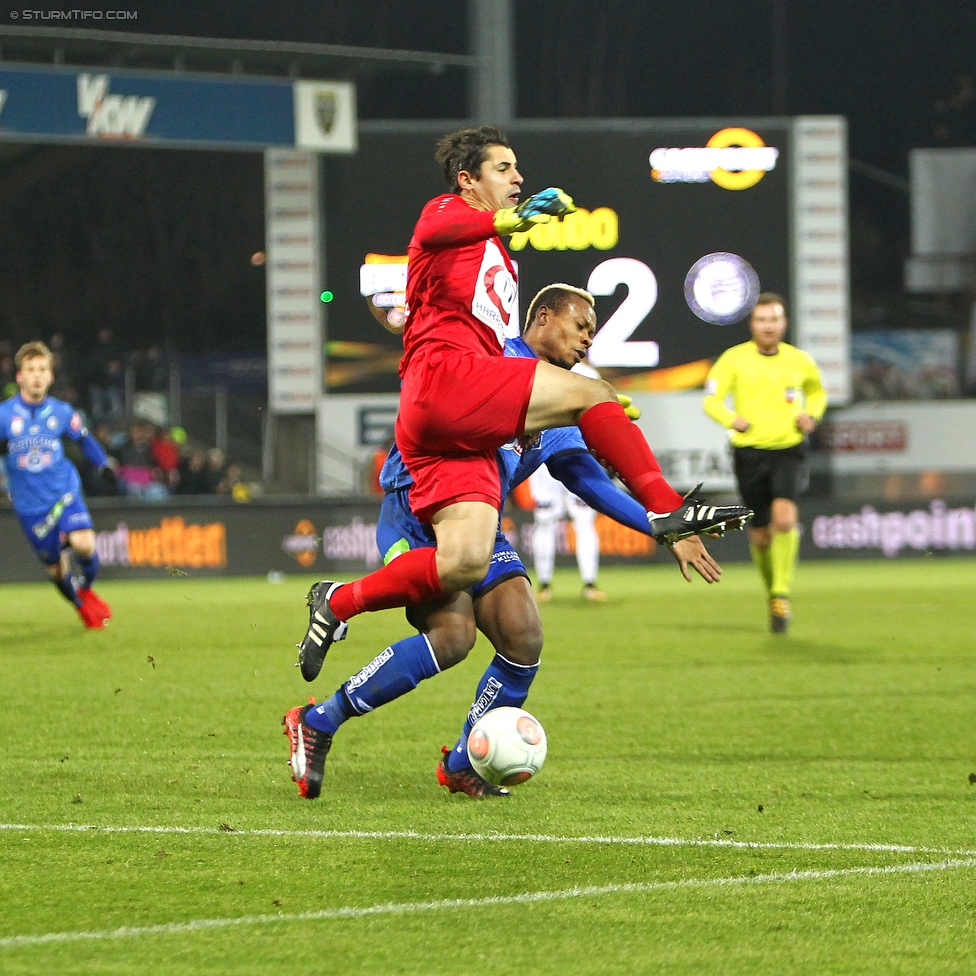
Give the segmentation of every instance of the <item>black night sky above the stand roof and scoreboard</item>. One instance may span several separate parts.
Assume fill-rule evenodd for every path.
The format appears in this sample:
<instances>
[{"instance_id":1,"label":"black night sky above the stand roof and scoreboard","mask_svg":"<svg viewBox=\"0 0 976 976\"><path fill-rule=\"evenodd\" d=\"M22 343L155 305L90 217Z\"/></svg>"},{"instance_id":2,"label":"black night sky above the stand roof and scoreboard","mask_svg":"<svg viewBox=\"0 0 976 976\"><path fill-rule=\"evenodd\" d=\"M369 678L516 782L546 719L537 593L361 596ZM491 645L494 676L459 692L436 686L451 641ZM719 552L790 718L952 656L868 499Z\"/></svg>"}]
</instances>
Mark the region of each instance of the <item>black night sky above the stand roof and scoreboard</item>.
<instances>
[{"instance_id":1,"label":"black night sky above the stand roof and scoreboard","mask_svg":"<svg viewBox=\"0 0 976 976\"><path fill-rule=\"evenodd\" d=\"M774 2L514 0L519 114L767 114ZM976 73L976 4L782 3L790 114L848 116L854 155L902 173L910 146L976 138L972 95L934 108L958 96L958 76ZM139 30L153 33L467 50L461 0L130 5L139 8ZM392 112L370 91L364 115L456 116L456 91L434 85L412 105L398 99ZM936 137L939 122L952 131Z\"/></svg>"}]
</instances>

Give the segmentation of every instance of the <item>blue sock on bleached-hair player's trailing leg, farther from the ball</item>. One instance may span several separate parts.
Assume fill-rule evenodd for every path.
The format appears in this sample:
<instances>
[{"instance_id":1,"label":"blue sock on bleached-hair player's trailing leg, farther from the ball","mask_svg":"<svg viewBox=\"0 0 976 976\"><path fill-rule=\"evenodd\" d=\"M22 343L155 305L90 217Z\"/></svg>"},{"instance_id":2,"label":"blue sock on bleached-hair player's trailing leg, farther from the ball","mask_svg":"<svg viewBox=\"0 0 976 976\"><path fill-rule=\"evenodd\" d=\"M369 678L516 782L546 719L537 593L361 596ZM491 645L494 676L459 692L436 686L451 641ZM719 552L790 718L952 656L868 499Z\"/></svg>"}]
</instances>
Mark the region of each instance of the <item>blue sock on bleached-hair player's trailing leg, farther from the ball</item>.
<instances>
[{"instance_id":1,"label":"blue sock on bleached-hair player's trailing leg, farther from the ball","mask_svg":"<svg viewBox=\"0 0 976 976\"><path fill-rule=\"evenodd\" d=\"M328 700L310 708L305 721L313 729L335 732L348 718L365 715L413 691L440 671L434 649L423 634L391 644L354 674Z\"/></svg>"}]
</instances>

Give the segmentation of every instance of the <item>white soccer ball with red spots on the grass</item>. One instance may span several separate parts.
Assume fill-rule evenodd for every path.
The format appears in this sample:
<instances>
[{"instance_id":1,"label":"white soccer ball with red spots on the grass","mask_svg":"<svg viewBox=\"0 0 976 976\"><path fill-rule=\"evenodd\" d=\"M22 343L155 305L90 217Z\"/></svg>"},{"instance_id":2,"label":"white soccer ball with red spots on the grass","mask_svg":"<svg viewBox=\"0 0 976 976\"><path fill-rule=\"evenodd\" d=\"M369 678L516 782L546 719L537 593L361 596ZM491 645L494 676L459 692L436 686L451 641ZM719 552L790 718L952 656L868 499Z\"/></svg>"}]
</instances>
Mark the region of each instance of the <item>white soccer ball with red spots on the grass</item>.
<instances>
[{"instance_id":1,"label":"white soccer ball with red spots on the grass","mask_svg":"<svg viewBox=\"0 0 976 976\"><path fill-rule=\"evenodd\" d=\"M499 786L535 776L546 761L546 730L521 708L485 712L468 734L468 758L475 772Z\"/></svg>"}]
</instances>

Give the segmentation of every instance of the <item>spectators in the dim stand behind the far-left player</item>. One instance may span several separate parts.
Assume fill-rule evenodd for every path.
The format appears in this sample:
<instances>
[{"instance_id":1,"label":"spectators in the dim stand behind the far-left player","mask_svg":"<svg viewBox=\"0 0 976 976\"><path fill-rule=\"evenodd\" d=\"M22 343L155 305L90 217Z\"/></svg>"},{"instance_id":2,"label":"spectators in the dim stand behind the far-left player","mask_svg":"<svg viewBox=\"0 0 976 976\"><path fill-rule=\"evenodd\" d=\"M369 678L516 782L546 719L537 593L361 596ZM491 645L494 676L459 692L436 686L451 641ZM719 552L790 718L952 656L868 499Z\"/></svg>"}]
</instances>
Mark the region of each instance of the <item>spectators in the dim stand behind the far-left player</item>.
<instances>
[{"instance_id":1,"label":"spectators in the dim stand behind the far-left player","mask_svg":"<svg viewBox=\"0 0 976 976\"><path fill-rule=\"evenodd\" d=\"M195 446L182 428L167 429L149 420L126 416L125 373L131 365L139 391L166 391L169 373L157 346L124 353L111 329L97 333L88 350L69 351L64 336L48 340L54 353L55 383L51 396L66 400L81 413L86 425L105 449L115 472L106 482L78 452L72 457L88 495L127 495L159 500L170 495L233 495L240 497L243 482L238 465L228 463L222 450ZM0 400L17 392L13 345L0 340Z\"/></svg>"}]
</instances>

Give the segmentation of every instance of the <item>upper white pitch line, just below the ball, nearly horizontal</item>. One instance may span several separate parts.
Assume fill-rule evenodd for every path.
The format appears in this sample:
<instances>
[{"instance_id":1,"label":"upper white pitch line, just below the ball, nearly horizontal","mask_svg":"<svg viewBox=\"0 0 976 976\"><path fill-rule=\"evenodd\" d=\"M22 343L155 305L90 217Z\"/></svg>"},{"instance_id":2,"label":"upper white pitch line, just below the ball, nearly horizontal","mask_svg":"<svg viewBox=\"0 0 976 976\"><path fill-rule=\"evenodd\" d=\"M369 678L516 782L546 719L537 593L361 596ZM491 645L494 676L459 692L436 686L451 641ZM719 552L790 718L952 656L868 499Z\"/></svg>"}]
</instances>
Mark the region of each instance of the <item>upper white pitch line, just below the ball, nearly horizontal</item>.
<instances>
[{"instance_id":1,"label":"upper white pitch line, just below the ball, nearly horizontal","mask_svg":"<svg viewBox=\"0 0 976 976\"><path fill-rule=\"evenodd\" d=\"M915 847L905 844L814 844L729 840L727 838L684 837L562 837L550 834L423 834L414 830L225 830L220 827L99 827L93 824L0 824L0 831L53 831L79 834L204 834L230 837L295 837L335 840L420 840L541 843L541 844L632 844L648 847L729 847L745 850L784 851L890 851L897 854L943 854L976 857L976 851L946 847Z\"/></svg>"}]
</instances>

